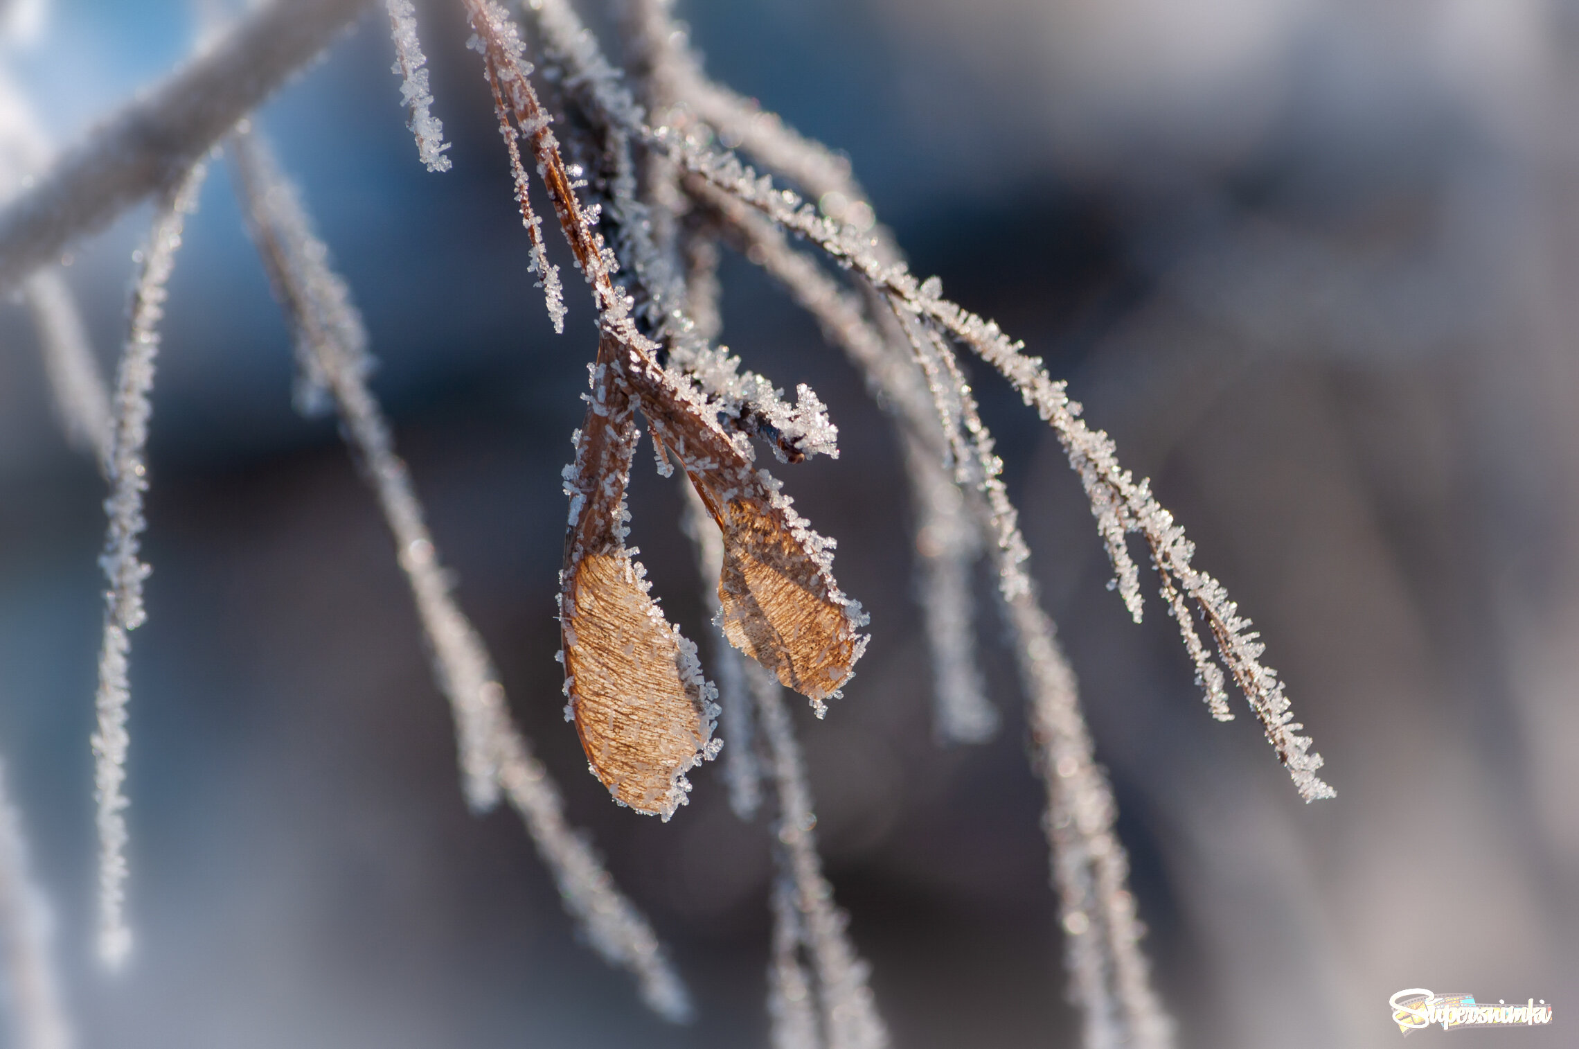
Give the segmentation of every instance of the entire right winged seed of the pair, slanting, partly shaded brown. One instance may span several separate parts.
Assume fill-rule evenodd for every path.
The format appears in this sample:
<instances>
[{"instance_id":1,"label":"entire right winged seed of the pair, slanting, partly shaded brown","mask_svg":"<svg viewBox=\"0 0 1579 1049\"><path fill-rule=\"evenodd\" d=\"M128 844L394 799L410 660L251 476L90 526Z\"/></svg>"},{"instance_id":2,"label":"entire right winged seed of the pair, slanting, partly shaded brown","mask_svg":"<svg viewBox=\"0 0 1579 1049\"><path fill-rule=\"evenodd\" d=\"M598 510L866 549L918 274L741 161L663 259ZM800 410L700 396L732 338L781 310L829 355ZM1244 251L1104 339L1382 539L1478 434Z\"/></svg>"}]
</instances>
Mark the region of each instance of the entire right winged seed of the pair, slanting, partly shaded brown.
<instances>
[{"instance_id":1,"label":"entire right winged seed of the pair, slanting, partly shaded brown","mask_svg":"<svg viewBox=\"0 0 1579 1049\"><path fill-rule=\"evenodd\" d=\"M646 354L625 362L641 411L685 466L723 531L718 600L723 632L785 686L821 705L851 675L865 649L865 616L829 570L831 555L753 469L706 411ZM821 706L818 706L821 709Z\"/></svg>"}]
</instances>

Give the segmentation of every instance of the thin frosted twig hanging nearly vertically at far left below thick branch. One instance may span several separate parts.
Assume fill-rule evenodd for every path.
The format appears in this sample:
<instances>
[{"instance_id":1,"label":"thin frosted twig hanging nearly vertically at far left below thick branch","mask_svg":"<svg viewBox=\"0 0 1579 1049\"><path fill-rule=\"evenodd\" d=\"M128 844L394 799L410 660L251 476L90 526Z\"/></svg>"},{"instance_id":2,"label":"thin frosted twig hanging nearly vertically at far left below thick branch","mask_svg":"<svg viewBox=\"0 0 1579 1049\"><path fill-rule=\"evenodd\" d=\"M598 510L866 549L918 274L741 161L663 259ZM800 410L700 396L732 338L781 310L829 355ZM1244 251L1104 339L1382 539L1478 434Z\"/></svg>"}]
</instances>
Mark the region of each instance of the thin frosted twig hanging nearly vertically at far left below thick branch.
<instances>
[{"instance_id":1,"label":"thin frosted twig hanging nearly vertically at far left below thick branch","mask_svg":"<svg viewBox=\"0 0 1579 1049\"><path fill-rule=\"evenodd\" d=\"M131 295L131 330L122 351L115 378L114 453L111 455L111 494L104 501L109 534L99 566L109 580L104 592L104 645L99 652L98 730L93 733L93 785L98 799L99 837L99 957L118 965L131 951L126 927L126 701L131 684L126 660L129 632L142 626L142 583L148 566L137 558L139 539L147 524L142 493L148 488L144 449L148 442L148 415L155 359L159 351L159 319L164 316L166 283L182 245L182 227L193 210L205 166L193 167L166 197L153 221L148 243L139 251L141 264Z\"/></svg>"}]
</instances>

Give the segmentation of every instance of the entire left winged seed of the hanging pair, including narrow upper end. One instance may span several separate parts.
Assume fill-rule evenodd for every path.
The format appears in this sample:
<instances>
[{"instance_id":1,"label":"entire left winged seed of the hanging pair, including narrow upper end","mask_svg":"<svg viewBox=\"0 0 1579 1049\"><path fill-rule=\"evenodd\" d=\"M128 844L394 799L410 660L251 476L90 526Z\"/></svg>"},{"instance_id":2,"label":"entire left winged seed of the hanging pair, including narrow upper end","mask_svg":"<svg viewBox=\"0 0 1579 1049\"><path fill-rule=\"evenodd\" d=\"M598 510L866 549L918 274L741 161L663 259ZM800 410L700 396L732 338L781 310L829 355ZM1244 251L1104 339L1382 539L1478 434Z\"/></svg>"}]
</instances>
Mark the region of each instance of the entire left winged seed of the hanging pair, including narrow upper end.
<instances>
[{"instance_id":1,"label":"entire left winged seed of the hanging pair, including narrow upper end","mask_svg":"<svg viewBox=\"0 0 1579 1049\"><path fill-rule=\"evenodd\" d=\"M617 801L668 820L685 773L717 754L717 706L696 646L647 596L625 548L625 482L636 450L630 395L600 349L576 461L565 471L570 536L561 580L567 714L592 773Z\"/></svg>"}]
</instances>

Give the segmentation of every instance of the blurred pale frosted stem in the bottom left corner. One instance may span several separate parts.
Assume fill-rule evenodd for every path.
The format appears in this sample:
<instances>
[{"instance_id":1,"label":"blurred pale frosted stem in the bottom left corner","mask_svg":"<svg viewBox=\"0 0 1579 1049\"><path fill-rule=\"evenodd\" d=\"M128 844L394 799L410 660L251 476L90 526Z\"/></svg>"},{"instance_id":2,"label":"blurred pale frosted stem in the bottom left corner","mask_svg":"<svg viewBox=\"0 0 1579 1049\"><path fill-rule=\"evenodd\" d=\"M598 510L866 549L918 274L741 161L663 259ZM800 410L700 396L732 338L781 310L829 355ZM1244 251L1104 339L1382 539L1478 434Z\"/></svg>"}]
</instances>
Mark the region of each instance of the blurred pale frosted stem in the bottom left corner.
<instances>
[{"instance_id":1,"label":"blurred pale frosted stem in the bottom left corner","mask_svg":"<svg viewBox=\"0 0 1579 1049\"><path fill-rule=\"evenodd\" d=\"M0 956L16 1049L69 1049L55 967L51 959L51 915L33 882L22 817L5 793L0 768Z\"/></svg>"}]
</instances>

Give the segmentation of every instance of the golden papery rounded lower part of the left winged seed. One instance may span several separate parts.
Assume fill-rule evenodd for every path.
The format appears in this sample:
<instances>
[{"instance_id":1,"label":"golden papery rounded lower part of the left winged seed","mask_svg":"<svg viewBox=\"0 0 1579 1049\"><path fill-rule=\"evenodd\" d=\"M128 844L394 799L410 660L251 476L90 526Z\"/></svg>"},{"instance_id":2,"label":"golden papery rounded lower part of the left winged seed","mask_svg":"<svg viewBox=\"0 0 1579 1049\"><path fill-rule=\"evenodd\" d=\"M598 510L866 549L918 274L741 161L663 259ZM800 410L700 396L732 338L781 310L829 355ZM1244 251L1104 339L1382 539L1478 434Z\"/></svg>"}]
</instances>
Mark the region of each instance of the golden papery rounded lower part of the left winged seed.
<instances>
[{"instance_id":1,"label":"golden papery rounded lower part of the left winged seed","mask_svg":"<svg viewBox=\"0 0 1579 1049\"><path fill-rule=\"evenodd\" d=\"M597 777L641 812L671 815L711 725L674 630L619 555L581 558L567 588L565 670Z\"/></svg>"}]
</instances>

